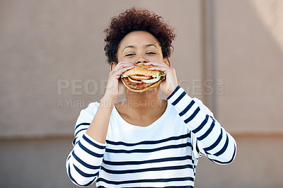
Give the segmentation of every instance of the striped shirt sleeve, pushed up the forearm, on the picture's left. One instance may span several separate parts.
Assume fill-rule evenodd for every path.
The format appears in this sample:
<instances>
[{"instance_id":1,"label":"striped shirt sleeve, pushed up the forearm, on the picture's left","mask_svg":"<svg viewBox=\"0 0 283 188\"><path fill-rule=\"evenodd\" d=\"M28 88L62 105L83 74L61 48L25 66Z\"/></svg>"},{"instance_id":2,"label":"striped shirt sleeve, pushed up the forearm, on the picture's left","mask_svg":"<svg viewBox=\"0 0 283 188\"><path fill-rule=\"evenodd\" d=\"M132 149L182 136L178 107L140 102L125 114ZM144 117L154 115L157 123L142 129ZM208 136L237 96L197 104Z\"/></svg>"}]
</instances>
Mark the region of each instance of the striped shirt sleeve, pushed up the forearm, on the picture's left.
<instances>
[{"instance_id":1,"label":"striped shirt sleeve, pushed up the forearm, on the picture's left","mask_svg":"<svg viewBox=\"0 0 283 188\"><path fill-rule=\"evenodd\" d=\"M79 186L88 186L96 181L105 153L105 143L99 143L86 134L97 109L98 103L94 102L86 110L81 110L76 121L74 148L66 162L70 180Z\"/></svg>"}]
</instances>

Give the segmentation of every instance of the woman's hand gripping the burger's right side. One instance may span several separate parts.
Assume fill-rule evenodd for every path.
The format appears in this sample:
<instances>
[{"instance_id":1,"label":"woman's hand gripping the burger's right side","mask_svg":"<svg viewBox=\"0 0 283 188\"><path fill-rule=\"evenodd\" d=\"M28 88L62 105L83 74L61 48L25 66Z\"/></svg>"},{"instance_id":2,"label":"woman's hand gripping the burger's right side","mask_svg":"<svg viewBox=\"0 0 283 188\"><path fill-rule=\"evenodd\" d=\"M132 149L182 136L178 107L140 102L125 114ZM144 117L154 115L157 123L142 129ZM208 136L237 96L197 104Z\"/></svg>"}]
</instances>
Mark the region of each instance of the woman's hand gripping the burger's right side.
<instances>
[{"instance_id":1,"label":"woman's hand gripping the burger's right side","mask_svg":"<svg viewBox=\"0 0 283 188\"><path fill-rule=\"evenodd\" d=\"M160 86L158 86L158 90L167 96L171 95L178 86L175 69L160 61L148 62L146 65L154 65L154 67L148 68L151 71L161 71L166 74L166 79L161 82Z\"/></svg>"}]
</instances>

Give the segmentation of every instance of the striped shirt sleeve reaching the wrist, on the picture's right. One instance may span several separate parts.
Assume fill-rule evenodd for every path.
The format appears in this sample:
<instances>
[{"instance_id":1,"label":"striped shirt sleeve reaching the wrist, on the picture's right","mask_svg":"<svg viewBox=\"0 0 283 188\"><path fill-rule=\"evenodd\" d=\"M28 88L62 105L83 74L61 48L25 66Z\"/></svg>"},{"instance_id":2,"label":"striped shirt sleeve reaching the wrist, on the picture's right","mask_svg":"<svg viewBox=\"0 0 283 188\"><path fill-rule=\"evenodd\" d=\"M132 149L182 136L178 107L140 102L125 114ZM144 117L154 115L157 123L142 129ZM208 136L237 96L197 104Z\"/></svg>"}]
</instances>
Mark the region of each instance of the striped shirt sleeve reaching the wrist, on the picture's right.
<instances>
[{"instance_id":1,"label":"striped shirt sleeve reaching the wrist, on the picture's right","mask_svg":"<svg viewBox=\"0 0 283 188\"><path fill-rule=\"evenodd\" d=\"M190 98L180 86L175 88L167 100L191 131L196 158L205 154L214 163L229 164L233 161L236 156L236 141L200 100Z\"/></svg>"}]
</instances>

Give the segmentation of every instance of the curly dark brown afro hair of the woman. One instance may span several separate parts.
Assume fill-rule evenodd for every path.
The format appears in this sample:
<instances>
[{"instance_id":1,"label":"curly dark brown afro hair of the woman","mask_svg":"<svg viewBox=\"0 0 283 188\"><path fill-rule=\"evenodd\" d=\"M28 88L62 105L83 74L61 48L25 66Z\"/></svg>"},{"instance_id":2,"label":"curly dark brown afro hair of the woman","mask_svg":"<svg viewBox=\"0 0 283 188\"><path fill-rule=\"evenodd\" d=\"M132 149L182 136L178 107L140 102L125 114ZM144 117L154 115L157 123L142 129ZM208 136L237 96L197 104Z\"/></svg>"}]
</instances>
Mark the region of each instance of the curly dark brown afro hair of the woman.
<instances>
[{"instance_id":1,"label":"curly dark brown afro hair of the woman","mask_svg":"<svg viewBox=\"0 0 283 188\"><path fill-rule=\"evenodd\" d=\"M174 29L164 23L161 16L141 8L129 8L111 19L110 25L104 30L105 55L110 64L117 62L117 50L121 40L135 30L144 30L154 35L161 45L163 58L171 56L171 43L175 38Z\"/></svg>"}]
</instances>

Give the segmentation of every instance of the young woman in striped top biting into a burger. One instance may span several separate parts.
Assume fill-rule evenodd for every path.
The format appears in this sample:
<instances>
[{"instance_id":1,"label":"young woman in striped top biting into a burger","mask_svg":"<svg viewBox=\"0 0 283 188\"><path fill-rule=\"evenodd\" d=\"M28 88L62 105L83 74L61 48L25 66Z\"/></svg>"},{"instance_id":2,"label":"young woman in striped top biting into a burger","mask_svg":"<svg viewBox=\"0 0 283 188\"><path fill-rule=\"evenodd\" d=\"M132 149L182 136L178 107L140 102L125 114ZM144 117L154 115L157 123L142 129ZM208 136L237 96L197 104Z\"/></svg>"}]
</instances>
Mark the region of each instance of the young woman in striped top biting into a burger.
<instances>
[{"instance_id":1,"label":"young woman in striped top biting into a burger","mask_svg":"<svg viewBox=\"0 0 283 188\"><path fill-rule=\"evenodd\" d=\"M236 142L210 110L178 86L168 59L173 29L155 13L130 8L105 30L110 74L105 95L81 111L67 158L72 182L97 187L193 187L200 155L231 163ZM120 76L137 64L166 78L158 88L133 92ZM158 98L158 92L167 100ZM125 93L125 100L117 102Z\"/></svg>"}]
</instances>

